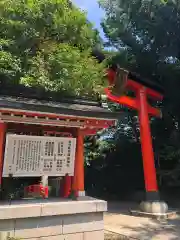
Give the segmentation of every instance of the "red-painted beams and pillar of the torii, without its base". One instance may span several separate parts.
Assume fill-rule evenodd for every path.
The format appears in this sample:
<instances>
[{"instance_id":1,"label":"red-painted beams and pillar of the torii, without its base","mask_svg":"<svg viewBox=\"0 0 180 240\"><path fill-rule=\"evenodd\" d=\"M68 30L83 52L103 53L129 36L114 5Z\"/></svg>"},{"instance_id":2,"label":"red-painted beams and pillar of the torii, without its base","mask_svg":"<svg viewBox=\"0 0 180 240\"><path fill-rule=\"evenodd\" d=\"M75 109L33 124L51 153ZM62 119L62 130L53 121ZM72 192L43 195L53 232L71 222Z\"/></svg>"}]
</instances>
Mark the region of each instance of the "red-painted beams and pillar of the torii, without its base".
<instances>
[{"instance_id":1,"label":"red-painted beams and pillar of the torii, without its base","mask_svg":"<svg viewBox=\"0 0 180 240\"><path fill-rule=\"evenodd\" d=\"M114 83L115 72L110 69L108 71L108 81L109 85ZM128 79L126 83L126 89L132 90L135 93L135 98L128 96L114 96L111 93L110 88L105 89L107 97L116 103L125 105L129 108L135 109L139 114L140 122L140 137L141 137L141 149L143 157L143 168L144 168L144 179L145 179L145 188L147 192L157 192L157 178L156 178L156 169L154 163L154 153L152 147L152 138L151 130L149 123L149 115L160 117L161 112L159 109L154 108L149 105L147 97L151 97L155 100L162 100L162 94L154 91L153 89L146 88L140 83Z\"/></svg>"}]
</instances>

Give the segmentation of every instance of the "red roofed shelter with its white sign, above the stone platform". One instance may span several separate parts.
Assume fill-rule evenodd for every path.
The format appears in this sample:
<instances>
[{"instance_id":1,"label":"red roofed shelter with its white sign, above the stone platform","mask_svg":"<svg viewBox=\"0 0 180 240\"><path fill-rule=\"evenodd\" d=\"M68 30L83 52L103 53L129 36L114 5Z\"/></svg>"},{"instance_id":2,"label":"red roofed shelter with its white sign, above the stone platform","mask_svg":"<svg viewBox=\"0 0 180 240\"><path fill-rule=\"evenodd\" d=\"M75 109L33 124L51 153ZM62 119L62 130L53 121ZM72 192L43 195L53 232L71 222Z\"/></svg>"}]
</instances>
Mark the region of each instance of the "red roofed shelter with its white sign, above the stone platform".
<instances>
[{"instance_id":1,"label":"red roofed shelter with its white sign, above the stone platform","mask_svg":"<svg viewBox=\"0 0 180 240\"><path fill-rule=\"evenodd\" d=\"M9 176L11 175L11 177L37 176L37 165L41 164L40 161L44 161L44 165L41 167L41 170L39 170L39 176L52 176L50 169L52 170L54 168L54 162L59 156L59 163L56 165L56 167L59 168L59 172L55 170L56 175L54 177L65 177L64 190L61 192L61 195L67 197L70 194L72 185L72 190L75 193L76 197L84 196L84 137L86 135L93 135L100 129L115 125L118 115L117 113L114 114L106 109L103 109L97 101L63 98L60 101L55 102L51 99L47 100L47 97L44 98L45 99L41 97L39 100L37 100L37 98L33 97L32 93L28 94L24 89L5 90L4 88L4 90L1 91L0 185L3 185L3 179L4 177L7 178L8 174ZM28 139L21 139L22 136L31 136L33 137L33 140L31 143L29 143ZM15 147L13 150L11 144L11 138L13 137L14 145L17 145L17 142L21 144L20 142L23 141L21 145L18 145L16 147L18 149L21 148L21 150L15 150ZM57 152L62 151L62 154L53 152L54 150L52 150L52 154L35 153L38 150L35 148L32 142L36 141L36 145L41 144L38 142L40 140L37 140L38 137L40 139L42 137L46 139L46 143L43 145L44 147L42 147L44 149L47 148L47 145L53 149L63 148L63 146L61 146L62 141L64 141L63 139L75 139L75 156L73 157L72 153L72 158L70 159L71 156L69 153L69 157L67 156L66 159L65 153L61 149L57 149ZM62 139L62 141L61 143L59 142L59 145L56 147L54 145L56 143L53 143L53 141L56 141L58 138ZM11 146L9 148L6 146L7 151L4 151L5 145L7 144ZM31 147L28 144L31 144ZM70 148L68 147L68 149ZM13 151L14 153L11 153ZM18 153L18 151L21 152ZM7 156L5 156L4 152L7 152ZM33 154L36 154L36 156L37 154L44 155L44 159L42 159L42 157L41 160L36 160L36 163L33 163L30 166L29 161L32 160L30 152L34 152ZM16 157L13 154L19 154L19 157ZM17 163L15 164L14 162L13 165L12 162L15 161L13 160L15 158L17 159ZM20 160L18 160L18 158ZM4 162L4 160L6 162ZM68 164L70 164L70 161L74 161L74 169L68 175L68 171L67 174L65 172L65 169L67 169L66 166L63 168L63 166L60 166L60 164L64 163L68 166ZM34 165L36 165L36 175L34 175ZM64 169L63 172L61 168ZM44 172L42 169L44 169Z\"/></svg>"}]
</instances>

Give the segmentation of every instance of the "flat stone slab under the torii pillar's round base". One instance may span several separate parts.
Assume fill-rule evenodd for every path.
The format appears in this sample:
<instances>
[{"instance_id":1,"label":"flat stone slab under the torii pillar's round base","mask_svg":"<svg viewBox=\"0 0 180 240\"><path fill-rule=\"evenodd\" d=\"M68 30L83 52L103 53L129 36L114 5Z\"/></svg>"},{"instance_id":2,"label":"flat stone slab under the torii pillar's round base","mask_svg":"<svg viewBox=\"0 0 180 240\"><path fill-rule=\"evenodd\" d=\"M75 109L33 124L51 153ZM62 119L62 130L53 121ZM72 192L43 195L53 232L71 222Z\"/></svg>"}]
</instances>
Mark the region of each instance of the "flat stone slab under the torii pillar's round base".
<instances>
[{"instance_id":1,"label":"flat stone slab under the torii pillar's round base","mask_svg":"<svg viewBox=\"0 0 180 240\"><path fill-rule=\"evenodd\" d=\"M136 210L130 210L130 213L133 216L140 216L140 217L149 217L149 218L154 218L154 219L171 219L175 218L177 216L176 211L168 211L167 213L147 213L147 212L141 212L141 211L136 211Z\"/></svg>"}]
</instances>

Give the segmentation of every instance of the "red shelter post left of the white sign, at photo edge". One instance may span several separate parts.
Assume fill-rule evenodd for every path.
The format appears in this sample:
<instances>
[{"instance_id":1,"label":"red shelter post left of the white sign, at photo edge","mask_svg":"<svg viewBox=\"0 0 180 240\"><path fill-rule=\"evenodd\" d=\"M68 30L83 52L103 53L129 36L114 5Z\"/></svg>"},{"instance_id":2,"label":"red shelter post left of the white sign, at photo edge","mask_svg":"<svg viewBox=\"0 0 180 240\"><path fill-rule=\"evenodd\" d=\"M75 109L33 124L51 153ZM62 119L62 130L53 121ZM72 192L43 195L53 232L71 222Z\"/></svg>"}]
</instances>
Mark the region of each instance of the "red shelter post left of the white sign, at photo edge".
<instances>
[{"instance_id":1,"label":"red shelter post left of the white sign, at photo edge","mask_svg":"<svg viewBox=\"0 0 180 240\"><path fill-rule=\"evenodd\" d=\"M2 185L5 137L6 137L6 123L0 122L0 187Z\"/></svg>"}]
</instances>

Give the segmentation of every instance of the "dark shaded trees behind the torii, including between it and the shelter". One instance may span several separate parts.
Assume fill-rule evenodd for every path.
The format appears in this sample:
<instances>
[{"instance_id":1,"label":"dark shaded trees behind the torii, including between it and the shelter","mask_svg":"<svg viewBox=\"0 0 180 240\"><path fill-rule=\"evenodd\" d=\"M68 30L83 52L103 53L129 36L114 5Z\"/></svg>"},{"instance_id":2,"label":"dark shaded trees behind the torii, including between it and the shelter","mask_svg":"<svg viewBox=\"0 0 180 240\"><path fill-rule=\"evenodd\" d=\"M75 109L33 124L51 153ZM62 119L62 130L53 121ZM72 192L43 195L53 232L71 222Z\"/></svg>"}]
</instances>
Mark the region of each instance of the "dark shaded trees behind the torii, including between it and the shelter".
<instances>
[{"instance_id":1,"label":"dark shaded trees behind the torii, including between it and the shelter","mask_svg":"<svg viewBox=\"0 0 180 240\"><path fill-rule=\"evenodd\" d=\"M168 1L164 4L153 0L101 0L100 6L105 11L102 27L107 38L106 46L116 49L113 61L161 84L164 88L163 118L151 119L155 165L161 186L179 186L180 8L178 1ZM123 116L122 113L120 116ZM88 176L90 171L94 174L95 170L101 169L102 175L106 176L106 181L111 186L109 189L112 189L117 182L119 184L124 182L126 179L124 172L129 179L130 176L134 176L134 180L126 181L127 184L129 183L127 189L132 186L134 189L139 188L141 185L138 180L142 180L142 171L139 174L142 164L139 161L141 156L137 113L131 112L128 116L129 120L123 124L120 122L115 131L109 130L112 133L109 141L110 145L112 142L114 144L113 151L108 151L106 157L102 156L101 160L93 162L92 168L88 167ZM102 152L103 142L99 144L100 150L97 151ZM106 145L104 151L106 152L108 148L109 146ZM129 168L123 166L124 161L129 162ZM100 180L96 184L102 185ZM114 190L114 193L118 194L118 192L119 190Z\"/></svg>"}]
</instances>

